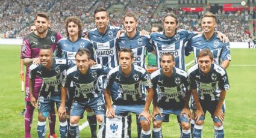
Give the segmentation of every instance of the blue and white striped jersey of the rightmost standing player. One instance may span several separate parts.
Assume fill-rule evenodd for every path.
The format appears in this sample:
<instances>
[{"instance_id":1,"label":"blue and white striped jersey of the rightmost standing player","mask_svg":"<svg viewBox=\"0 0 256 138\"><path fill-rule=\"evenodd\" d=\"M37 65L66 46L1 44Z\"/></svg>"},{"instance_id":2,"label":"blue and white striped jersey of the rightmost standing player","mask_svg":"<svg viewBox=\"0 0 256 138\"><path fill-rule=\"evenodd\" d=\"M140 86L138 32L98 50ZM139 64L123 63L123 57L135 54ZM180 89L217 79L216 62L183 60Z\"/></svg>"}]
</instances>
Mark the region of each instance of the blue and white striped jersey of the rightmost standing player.
<instances>
[{"instance_id":1,"label":"blue and white striped jersey of the rightmost standing player","mask_svg":"<svg viewBox=\"0 0 256 138\"><path fill-rule=\"evenodd\" d=\"M217 38L217 34L213 33L210 40L207 40L204 34L199 34L193 37L187 47L185 48L186 55L191 52L194 53L195 62L197 63L198 54L203 49L209 49L213 53L214 61L217 64L221 64L222 61L231 61L230 46L229 43L223 43Z\"/></svg>"}]
</instances>

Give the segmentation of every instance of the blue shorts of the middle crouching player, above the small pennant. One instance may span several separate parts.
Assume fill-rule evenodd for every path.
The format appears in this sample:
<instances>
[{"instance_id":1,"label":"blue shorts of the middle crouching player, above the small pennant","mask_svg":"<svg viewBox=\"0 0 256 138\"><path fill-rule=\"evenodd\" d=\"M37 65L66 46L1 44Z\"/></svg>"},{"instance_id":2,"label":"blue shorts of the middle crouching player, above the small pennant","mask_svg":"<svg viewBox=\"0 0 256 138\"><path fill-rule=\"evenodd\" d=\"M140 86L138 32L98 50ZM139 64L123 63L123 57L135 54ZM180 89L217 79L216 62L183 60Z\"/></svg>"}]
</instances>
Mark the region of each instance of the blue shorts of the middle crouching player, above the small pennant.
<instances>
[{"instance_id":1,"label":"blue shorts of the middle crouching player, above the small pennant","mask_svg":"<svg viewBox=\"0 0 256 138\"><path fill-rule=\"evenodd\" d=\"M128 113L135 113L136 115L140 115L142 113L145 104L129 104L129 105L113 105L112 108L114 110L115 115L126 116ZM146 121L146 118L140 116L140 121Z\"/></svg>"}]
</instances>

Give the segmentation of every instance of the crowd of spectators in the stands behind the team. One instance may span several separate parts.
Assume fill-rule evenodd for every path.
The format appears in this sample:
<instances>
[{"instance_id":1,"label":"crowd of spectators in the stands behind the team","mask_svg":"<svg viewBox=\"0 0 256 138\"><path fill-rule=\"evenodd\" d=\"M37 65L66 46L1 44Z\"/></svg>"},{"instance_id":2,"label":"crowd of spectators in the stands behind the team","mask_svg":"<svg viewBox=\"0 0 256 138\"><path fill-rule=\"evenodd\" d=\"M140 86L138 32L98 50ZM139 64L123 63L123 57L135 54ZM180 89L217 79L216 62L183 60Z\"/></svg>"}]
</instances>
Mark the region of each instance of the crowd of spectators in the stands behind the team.
<instances>
[{"instance_id":1,"label":"crowd of spectators in the stands behind the team","mask_svg":"<svg viewBox=\"0 0 256 138\"><path fill-rule=\"evenodd\" d=\"M163 25L163 17L166 13L173 12L178 15L179 29L190 31L201 31L201 17L204 11L199 13L186 13L181 10L170 10L163 7L163 10L154 17L154 12L161 0L43 0L40 2L23 0L1 1L0 5L0 38L22 38L28 34L28 26L33 23L34 15L39 11L47 11L51 16L51 28L65 35L64 20L69 16L78 16L84 22L84 28L95 28L93 14L96 8L110 8L114 4L122 4L123 11L110 13L110 25L123 27L123 16L127 12L136 13L138 17L138 29L146 29L152 24ZM17 8L19 7L19 8ZM217 13L217 30L229 37L230 41L249 41L253 37L249 31L248 20L251 15L248 11L237 11L236 13ZM255 23L254 23L255 28ZM148 28L149 29L149 28Z\"/></svg>"}]
</instances>

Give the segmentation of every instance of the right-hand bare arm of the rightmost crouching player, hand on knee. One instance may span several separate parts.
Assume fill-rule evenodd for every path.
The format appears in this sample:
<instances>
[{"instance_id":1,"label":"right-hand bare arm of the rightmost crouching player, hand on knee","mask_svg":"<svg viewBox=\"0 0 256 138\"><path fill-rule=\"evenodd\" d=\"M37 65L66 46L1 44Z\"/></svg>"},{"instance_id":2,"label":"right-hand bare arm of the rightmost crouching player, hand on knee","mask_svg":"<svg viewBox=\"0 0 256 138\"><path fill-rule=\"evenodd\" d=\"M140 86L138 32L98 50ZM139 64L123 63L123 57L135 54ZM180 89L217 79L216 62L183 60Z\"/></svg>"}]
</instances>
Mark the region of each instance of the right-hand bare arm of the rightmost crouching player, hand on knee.
<instances>
[{"instance_id":1,"label":"right-hand bare arm of the rightmost crouching player, hand on knee","mask_svg":"<svg viewBox=\"0 0 256 138\"><path fill-rule=\"evenodd\" d=\"M223 122L224 116L225 116L225 114L222 111L222 105L225 100L225 97L226 97L226 91L220 90L219 102L218 102L216 110L214 112L214 116L217 116L217 118L219 118L220 121L222 121L222 122Z\"/></svg>"}]
</instances>

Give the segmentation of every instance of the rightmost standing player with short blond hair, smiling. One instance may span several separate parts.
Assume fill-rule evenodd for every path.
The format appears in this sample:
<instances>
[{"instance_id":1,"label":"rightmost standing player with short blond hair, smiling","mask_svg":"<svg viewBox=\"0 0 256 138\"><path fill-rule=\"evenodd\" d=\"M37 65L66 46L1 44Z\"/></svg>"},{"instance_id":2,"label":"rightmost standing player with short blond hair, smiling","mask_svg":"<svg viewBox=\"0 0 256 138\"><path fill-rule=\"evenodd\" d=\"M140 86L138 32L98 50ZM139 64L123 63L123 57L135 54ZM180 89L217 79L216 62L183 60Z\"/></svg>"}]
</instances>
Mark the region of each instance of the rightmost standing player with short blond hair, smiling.
<instances>
[{"instance_id":1,"label":"rightmost standing player with short blond hair, smiling","mask_svg":"<svg viewBox=\"0 0 256 138\"><path fill-rule=\"evenodd\" d=\"M189 55L191 52L193 52L195 56L195 62L197 62L198 53L203 49L210 49L213 53L214 62L225 69L228 68L229 62L231 61L230 47L229 43L223 43L220 41L216 32L214 32L214 28L217 26L216 16L210 12L205 13L202 17L201 26L203 34L198 34L191 38L190 42L185 48L186 55ZM193 97L191 99L191 108L193 110L196 109ZM192 116L191 120L192 132L195 124L193 117L194 116Z\"/></svg>"}]
</instances>

